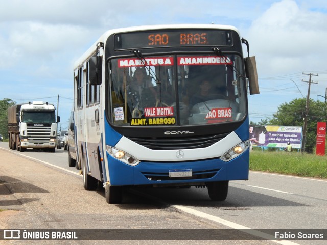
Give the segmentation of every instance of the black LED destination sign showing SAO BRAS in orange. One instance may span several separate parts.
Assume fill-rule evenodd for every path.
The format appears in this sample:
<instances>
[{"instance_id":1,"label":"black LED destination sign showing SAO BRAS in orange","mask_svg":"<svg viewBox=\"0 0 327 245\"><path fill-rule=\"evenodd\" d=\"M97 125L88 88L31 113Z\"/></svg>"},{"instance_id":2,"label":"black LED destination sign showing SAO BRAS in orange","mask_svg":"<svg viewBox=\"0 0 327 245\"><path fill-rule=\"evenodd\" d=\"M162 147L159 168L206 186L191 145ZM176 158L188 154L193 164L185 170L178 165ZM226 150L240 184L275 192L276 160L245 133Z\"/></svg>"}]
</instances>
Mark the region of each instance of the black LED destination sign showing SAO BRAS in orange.
<instances>
[{"instance_id":1,"label":"black LED destination sign showing SAO BRAS in orange","mask_svg":"<svg viewBox=\"0 0 327 245\"><path fill-rule=\"evenodd\" d=\"M116 50L172 46L232 46L228 30L151 30L114 36Z\"/></svg>"}]
</instances>

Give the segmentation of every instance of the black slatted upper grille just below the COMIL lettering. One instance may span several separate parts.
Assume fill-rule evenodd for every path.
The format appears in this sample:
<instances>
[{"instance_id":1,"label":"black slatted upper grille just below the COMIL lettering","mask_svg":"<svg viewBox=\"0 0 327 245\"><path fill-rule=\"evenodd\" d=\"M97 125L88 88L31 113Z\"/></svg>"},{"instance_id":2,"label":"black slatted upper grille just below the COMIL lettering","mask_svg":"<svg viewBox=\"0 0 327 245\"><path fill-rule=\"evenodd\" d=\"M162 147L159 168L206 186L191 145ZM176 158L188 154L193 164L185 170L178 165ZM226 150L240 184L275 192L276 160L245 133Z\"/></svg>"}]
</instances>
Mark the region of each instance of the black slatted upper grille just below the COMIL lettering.
<instances>
[{"instance_id":1,"label":"black slatted upper grille just below the COMIL lettering","mask_svg":"<svg viewBox=\"0 0 327 245\"><path fill-rule=\"evenodd\" d=\"M225 138L228 134L229 133L183 138L180 136L175 138L127 138L152 150L183 150L211 146Z\"/></svg>"}]
</instances>

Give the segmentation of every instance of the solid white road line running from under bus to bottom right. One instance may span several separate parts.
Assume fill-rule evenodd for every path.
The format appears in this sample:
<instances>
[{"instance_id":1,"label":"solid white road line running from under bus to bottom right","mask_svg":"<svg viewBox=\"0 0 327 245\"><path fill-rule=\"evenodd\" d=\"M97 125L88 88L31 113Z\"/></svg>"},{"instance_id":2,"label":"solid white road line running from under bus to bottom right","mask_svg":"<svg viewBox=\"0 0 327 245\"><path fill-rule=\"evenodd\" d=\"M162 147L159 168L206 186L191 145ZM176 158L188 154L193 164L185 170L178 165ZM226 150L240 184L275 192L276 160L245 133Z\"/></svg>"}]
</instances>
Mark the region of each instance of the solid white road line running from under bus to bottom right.
<instances>
[{"instance_id":1,"label":"solid white road line running from under bus to bottom right","mask_svg":"<svg viewBox=\"0 0 327 245\"><path fill-rule=\"evenodd\" d=\"M294 243L294 242L288 241L288 240L277 240L272 235L269 235L269 234L266 234L264 232L248 228L246 226L242 226L240 224L237 224L237 223L234 223L234 222L231 222L231 221L221 219L220 217L216 217L214 215L210 215L210 214L207 214L207 213L204 213L204 212L197 211L197 210L192 209L192 208L179 206L179 205L173 205L172 207L174 207L176 209L179 209L181 211L184 211L186 213L190 213L190 214L192 214L194 216L197 216L197 217L200 217L202 219L208 219L208 220L211 220L211 221L214 221L214 222L218 222L218 223L220 223L222 225L228 226L228 227L233 228L233 229L242 229L242 231L244 231L244 232L246 232L248 234L261 237L261 238L263 238L265 240L270 240L270 241L273 241L273 242L276 242L276 243L279 243L279 244L283 244L283 245L296 245L296 244L298 245L298 243ZM243 230L243 229L246 229L246 230Z\"/></svg>"}]
</instances>

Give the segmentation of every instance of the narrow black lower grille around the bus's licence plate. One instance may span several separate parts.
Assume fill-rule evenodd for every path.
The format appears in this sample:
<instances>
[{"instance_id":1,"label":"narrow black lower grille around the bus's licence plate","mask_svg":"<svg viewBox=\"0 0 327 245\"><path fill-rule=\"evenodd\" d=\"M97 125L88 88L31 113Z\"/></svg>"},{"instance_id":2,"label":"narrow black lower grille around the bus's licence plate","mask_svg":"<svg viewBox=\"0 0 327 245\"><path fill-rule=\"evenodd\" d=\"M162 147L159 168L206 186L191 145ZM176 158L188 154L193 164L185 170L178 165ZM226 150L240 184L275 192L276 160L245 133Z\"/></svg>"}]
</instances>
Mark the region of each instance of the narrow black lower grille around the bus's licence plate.
<instances>
[{"instance_id":1,"label":"narrow black lower grille around the bus's licence plate","mask_svg":"<svg viewBox=\"0 0 327 245\"><path fill-rule=\"evenodd\" d=\"M205 171L197 171L193 172L192 176L190 177L176 177L170 178L169 173L145 173L142 174L149 180L152 181L164 181L164 180L184 180L184 179L208 179L215 176L220 169L212 169L212 170L205 170Z\"/></svg>"}]
</instances>

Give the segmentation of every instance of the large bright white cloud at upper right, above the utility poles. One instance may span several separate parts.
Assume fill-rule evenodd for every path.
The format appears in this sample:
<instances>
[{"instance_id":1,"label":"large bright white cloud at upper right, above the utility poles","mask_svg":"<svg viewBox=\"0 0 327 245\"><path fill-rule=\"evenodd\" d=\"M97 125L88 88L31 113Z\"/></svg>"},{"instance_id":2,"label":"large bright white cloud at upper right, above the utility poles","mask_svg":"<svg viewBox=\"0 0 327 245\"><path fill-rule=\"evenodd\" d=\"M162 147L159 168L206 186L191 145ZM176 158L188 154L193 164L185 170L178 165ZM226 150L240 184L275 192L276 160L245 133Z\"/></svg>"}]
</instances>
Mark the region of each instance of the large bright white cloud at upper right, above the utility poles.
<instances>
[{"instance_id":1,"label":"large bright white cloud at upper right, above the utility poles","mask_svg":"<svg viewBox=\"0 0 327 245\"><path fill-rule=\"evenodd\" d=\"M321 50L327 38L326 22L326 14L300 8L293 0L273 3L253 21L248 33L252 52L265 64L263 73L308 70L310 66L325 69Z\"/></svg>"}]
</instances>

